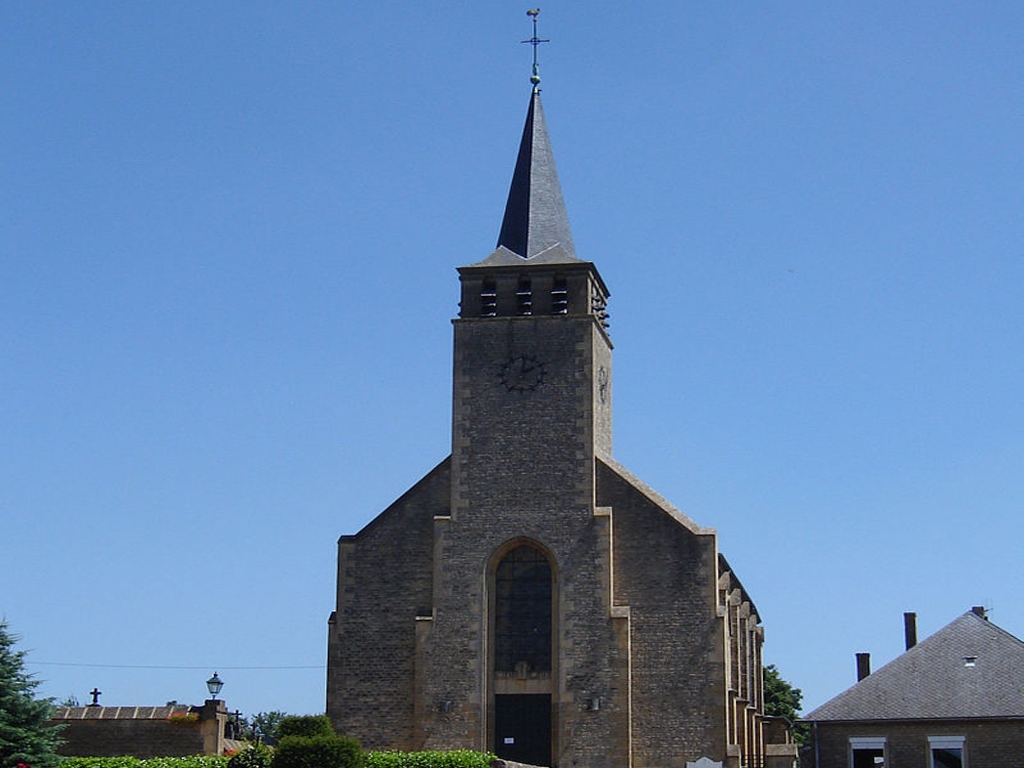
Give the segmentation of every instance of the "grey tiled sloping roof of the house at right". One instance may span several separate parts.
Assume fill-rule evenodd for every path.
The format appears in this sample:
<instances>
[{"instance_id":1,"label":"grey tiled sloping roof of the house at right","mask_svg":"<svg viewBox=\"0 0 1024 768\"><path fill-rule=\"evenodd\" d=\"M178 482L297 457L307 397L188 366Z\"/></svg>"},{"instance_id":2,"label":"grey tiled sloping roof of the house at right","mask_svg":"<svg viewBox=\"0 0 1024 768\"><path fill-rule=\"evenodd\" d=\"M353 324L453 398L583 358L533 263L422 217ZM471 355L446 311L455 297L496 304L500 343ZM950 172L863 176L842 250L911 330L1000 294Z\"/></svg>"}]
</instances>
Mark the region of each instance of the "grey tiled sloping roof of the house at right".
<instances>
[{"instance_id":1,"label":"grey tiled sloping roof of the house at right","mask_svg":"<svg viewBox=\"0 0 1024 768\"><path fill-rule=\"evenodd\" d=\"M802 719L998 717L1024 717L1024 642L968 611Z\"/></svg>"}]
</instances>

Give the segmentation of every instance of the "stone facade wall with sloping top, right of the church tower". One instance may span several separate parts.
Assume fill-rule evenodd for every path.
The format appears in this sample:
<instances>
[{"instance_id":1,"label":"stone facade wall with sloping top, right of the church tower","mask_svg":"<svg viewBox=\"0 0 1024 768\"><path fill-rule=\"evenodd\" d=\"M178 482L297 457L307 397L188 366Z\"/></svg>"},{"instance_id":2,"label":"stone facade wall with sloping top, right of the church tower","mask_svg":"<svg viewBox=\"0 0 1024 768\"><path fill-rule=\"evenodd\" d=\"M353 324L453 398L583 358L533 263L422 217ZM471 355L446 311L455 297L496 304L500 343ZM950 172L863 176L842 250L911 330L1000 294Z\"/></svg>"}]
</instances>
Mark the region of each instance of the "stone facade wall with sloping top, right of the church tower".
<instances>
[{"instance_id":1,"label":"stone facade wall with sloping top, right of the church tower","mask_svg":"<svg viewBox=\"0 0 1024 768\"><path fill-rule=\"evenodd\" d=\"M615 601L632 623L634 766L726 758L713 530L691 529L607 465L598 501L615 524Z\"/></svg>"}]
</instances>

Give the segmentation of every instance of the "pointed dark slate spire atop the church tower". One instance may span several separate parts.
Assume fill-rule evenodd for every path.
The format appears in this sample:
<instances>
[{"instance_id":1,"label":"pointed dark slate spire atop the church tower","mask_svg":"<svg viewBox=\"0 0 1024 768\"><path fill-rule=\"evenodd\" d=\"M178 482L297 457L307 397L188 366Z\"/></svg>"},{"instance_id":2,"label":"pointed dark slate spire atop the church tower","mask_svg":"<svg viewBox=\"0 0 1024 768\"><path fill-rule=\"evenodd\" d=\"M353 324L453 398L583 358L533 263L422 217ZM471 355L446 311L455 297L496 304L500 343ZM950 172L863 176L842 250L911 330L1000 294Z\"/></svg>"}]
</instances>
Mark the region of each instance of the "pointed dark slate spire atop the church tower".
<instances>
[{"instance_id":1,"label":"pointed dark slate spire atop the church tower","mask_svg":"<svg viewBox=\"0 0 1024 768\"><path fill-rule=\"evenodd\" d=\"M544 122L541 92L535 87L498 246L528 259L555 245L560 245L568 258L577 258L548 127Z\"/></svg>"}]
</instances>

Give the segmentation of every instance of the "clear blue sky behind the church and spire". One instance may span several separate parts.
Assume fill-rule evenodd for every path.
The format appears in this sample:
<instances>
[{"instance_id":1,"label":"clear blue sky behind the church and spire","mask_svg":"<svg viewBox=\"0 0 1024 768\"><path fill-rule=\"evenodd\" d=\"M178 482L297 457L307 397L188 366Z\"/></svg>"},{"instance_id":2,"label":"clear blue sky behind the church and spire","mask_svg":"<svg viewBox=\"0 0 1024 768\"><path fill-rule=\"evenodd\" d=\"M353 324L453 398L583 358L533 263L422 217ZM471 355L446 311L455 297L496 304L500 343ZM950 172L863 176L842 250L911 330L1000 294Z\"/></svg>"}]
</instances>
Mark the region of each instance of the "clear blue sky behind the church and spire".
<instances>
[{"instance_id":1,"label":"clear blue sky behind the church and spire","mask_svg":"<svg viewBox=\"0 0 1024 768\"><path fill-rule=\"evenodd\" d=\"M0 8L0 614L41 692L324 708L335 541L449 452L526 5ZM616 459L805 710L1024 636L1024 5L545 4ZM272 668L272 669L269 669Z\"/></svg>"}]
</instances>

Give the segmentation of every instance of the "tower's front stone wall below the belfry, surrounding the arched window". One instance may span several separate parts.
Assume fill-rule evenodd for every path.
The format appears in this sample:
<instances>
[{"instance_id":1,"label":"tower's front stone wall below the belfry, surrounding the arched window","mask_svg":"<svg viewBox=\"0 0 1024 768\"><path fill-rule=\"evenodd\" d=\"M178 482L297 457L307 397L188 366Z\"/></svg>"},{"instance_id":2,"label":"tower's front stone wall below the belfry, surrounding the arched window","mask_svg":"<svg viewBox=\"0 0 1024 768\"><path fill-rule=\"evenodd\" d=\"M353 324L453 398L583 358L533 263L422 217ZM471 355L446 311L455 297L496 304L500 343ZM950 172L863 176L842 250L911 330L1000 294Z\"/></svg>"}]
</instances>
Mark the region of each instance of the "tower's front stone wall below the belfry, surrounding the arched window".
<instances>
[{"instance_id":1,"label":"tower's front stone wall below the belfry, surrounding the arched window","mask_svg":"<svg viewBox=\"0 0 1024 768\"><path fill-rule=\"evenodd\" d=\"M438 746L494 748L488 578L503 548L528 541L555 573L554 757L625 764L628 700L625 689L616 700L610 676L626 639L609 613L607 519L594 509L600 333L588 315L456 322L453 508L436 526L436 615L423 656L426 730ZM503 366L520 356L545 376L510 391ZM588 709L599 695L605 706ZM452 711L439 712L440 700Z\"/></svg>"}]
</instances>

